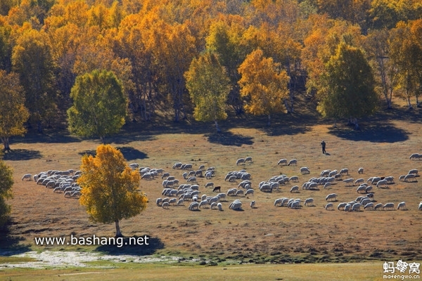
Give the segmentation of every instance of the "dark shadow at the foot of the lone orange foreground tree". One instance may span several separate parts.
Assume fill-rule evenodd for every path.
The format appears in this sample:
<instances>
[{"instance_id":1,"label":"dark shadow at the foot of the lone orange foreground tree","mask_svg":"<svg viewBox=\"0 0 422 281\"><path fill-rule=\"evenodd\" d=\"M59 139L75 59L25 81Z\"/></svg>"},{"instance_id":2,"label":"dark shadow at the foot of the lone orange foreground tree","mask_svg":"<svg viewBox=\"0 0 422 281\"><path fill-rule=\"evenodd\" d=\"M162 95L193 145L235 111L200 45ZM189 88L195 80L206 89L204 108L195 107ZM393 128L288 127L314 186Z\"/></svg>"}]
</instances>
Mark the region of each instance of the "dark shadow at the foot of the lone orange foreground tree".
<instances>
[{"instance_id":1,"label":"dark shadow at the foot of the lone orange foreground tree","mask_svg":"<svg viewBox=\"0 0 422 281\"><path fill-rule=\"evenodd\" d=\"M120 239L120 240L117 240ZM132 237L123 237L117 238L115 245L101 245L96 247L96 251L101 251L105 254L112 254L112 255L136 255L136 256L146 256L154 254L155 251L158 249L164 248L164 243L161 242L160 239L155 237L148 237L148 240L145 240L143 236L132 236ZM136 244L136 242L142 244ZM148 243L145 244L145 242ZM122 245L122 247L117 246Z\"/></svg>"}]
</instances>

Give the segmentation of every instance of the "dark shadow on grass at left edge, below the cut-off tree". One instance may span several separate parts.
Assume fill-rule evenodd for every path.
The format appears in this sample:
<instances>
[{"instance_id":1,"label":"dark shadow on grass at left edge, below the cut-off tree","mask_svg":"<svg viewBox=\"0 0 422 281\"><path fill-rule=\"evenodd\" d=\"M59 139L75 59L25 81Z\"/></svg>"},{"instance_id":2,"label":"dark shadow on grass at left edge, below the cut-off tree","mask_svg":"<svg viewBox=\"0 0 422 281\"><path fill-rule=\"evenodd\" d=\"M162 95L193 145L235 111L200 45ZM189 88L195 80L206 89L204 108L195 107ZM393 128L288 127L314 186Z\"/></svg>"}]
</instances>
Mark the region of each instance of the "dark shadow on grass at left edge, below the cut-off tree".
<instances>
[{"instance_id":1,"label":"dark shadow on grass at left edge, below the cut-off tree","mask_svg":"<svg viewBox=\"0 0 422 281\"><path fill-rule=\"evenodd\" d=\"M9 227L12 222L8 221L5 226L0 227L0 256L12 256L32 251L30 246L20 244L25 241L24 237L12 236Z\"/></svg>"}]
</instances>

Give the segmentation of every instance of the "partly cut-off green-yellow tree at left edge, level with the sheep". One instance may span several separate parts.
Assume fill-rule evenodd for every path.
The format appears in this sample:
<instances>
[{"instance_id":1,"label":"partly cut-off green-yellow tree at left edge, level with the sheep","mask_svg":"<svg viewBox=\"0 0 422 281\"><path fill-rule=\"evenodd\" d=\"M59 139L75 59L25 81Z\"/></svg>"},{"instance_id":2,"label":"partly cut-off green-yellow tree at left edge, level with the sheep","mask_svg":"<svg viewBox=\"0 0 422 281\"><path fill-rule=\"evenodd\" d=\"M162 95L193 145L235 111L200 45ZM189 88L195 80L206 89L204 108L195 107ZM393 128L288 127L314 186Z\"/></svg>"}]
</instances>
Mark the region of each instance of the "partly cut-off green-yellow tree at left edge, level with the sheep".
<instances>
[{"instance_id":1,"label":"partly cut-off green-yellow tree at left edge, level with the sheep","mask_svg":"<svg viewBox=\"0 0 422 281\"><path fill-rule=\"evenodd\" d=\"M0 226L8 220L11 206L6 203L11 199L13 186L13 170L0 159Z\"/></svg>"}]
</instances>

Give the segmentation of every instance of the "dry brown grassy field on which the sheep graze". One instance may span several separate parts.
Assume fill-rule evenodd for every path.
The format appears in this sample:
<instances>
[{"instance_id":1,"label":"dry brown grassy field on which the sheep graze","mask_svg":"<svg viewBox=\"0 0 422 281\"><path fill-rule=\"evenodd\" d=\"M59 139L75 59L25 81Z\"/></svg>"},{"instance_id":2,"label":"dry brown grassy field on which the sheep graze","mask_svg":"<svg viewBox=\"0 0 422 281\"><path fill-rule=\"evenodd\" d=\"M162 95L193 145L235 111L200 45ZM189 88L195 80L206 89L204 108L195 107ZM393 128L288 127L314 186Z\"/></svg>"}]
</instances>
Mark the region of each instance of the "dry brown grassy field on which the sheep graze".
<instances>
[{"instance_id":1,"label":"dry brown grassy field on which the sheep graze","mask_svg":"<svg viewBox=\"0 0 422 281\"><path fill-rule=\"evenodd\" d=\"M59 133L46 131L43 135L29 133L25 138L15 138L11 143L13 152L4 156L6 163L14 169L15 185L14 197L10 200L13 208L11 223L0 235L0 248L13 249L13 252L53 249L199 257L206 263L218 265L250 263L249 266L241 266L239 271L250 270L250 274L257 276L261 273L256 268L262 268L264 264L263 275L283 268L283 275L277 277L274 273L274 278L271 277L274 280L307 280L303 276L297 279L286 277L284 273L288 270L300 272L308 266L276 266L274 263L324 263L326 266L309 266L318 266L321 272L331 268L326 273L335 271L338 274L340 270L333 263L373 261L359 264L379 268L374 274L371 269L363 279L357 277L347 280L376 280L378 276L382 277L383 261L422 260L422 211L417 210L422 200L420 178L413 183L398 180L410 169L421 171L422 161L409 159L414 152L422 153L420 111L398 108L381 112L376 117L362 120L360 131L340 123L334 128L332 122L322 121L309 112L275 117L273 122L271 127L267 127L265 118L232 119L221 122L224 132L215 134L208 124L188 121L169 124L155 119L153 123L130 124L120 136L109 138L107 141L119 148L128 162L165 169L180 183L184 183L181 176L183 171L172 169L175 162L191 163L193 169L198 169L201 164L214 166L217 173L212 182L221 185L222 192L237 188L240 182L224 181L229 171L245 169L252 175L255 195L228 197L226 202L222 202L224 211L188 211L190 202L184 206L162 209L155 205L155 199L162 197L162 179L141 180L141 190L148 195L148 208L139 216L120 223L122 233L127 237L150 237L148 246L139 247L35 245L35 237L114 235L114 225L91 223L78 200L66 199L63 193L53 193L53 190L33 181L21 181L23 174L27 173L78 169L81 156L94 152L99 142L80 140L68 135L64 129ZM328 155L321 153L320 143L323 139L327 143ZM239 157L252 157L253 161L236 166ZM281 158L298 159L298 166L278 166ZM301 166L308 166L311 173L301 175ZM357 173L359 167L364 167L363 175ZM388 185L388 188L374 188L374 199L376 203L394 202L396 207L398 202L404 201L407 210L338 211L336 207L339 202L350 202L358 196L357 186L347 186L341 181L330 190L320 188L314 191L300 189L295 194L289 192L291 186L301 186L309 178L319 176L324 169L342 168L350 171L350 175L343 178L364 178L366 181L371 176L394 176L395 183ZM260 181L267 181L279 174L299 176L299 183L281 186L279 191L271 193L257 189ZM212 195L212 190L205 188L208 181L198 178L201 195ZM326 211L325 197L333 192L338 194L338 202L334 202L333 211ZM279 197L301 200L312 197L315 206L300 209L274 207L274 200ZM243 211L228 208L235 199L243 202ZM249 207L252 200L256 202L255 209ZM170 268L165 268L168 274L172 274ZM207 270L212 271L212 268L215 267L198 268L198 271L195 268L194 271L206 276ZM220 266L217 268L223 271ZM119 274L120 270L123 269L107 271ZM142 274L145 272L143 268L138 270L142 270ZM151 274L155 270L151 266ZM184 268L175 267L174 271L177 270L183 271ZM224 270L224 274L229 272L236 273L236 267ZM350 274L357 272L359 270L350 270ZM6 273L14 274L12 280L20 280L19 276L25 275L19 270L6 270ZM72 280L71 276L68 275L65 280ZM85 278L90 276L94 274L84 275L84 280L89 280ZM181 273L175 276L181 276ZM255 280L260 280L260 277Z\"/></svg>"}]
</instances>

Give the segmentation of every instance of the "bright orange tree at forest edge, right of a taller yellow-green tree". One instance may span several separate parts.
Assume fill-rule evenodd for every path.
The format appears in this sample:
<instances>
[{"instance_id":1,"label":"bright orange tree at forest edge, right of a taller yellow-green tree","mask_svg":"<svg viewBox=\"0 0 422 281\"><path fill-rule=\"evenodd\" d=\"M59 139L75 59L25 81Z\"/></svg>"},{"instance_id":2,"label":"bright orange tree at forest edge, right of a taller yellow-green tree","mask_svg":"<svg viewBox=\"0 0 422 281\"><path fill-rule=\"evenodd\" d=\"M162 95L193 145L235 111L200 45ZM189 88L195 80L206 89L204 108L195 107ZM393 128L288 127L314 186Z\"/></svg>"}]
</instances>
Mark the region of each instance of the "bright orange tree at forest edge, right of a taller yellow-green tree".
<instances>
[{"instance_id":1,"label":"bright orange tree at forest edge, right of a taller yellow-green tree","mask_svg":"<svg viewBox=\"0 0 422 281\"><path fill-rule=\"evenodd\" d=\"M289 77L286 70L279 70L279 63L264 58L257 49L250 53L238 68L242 78L241 96L247 99L245 111L253 115L267 115L271 125L271 114L284 110L283 99L288 97Z\"/></svg>"}]
</instances>

